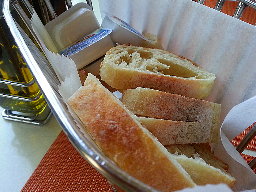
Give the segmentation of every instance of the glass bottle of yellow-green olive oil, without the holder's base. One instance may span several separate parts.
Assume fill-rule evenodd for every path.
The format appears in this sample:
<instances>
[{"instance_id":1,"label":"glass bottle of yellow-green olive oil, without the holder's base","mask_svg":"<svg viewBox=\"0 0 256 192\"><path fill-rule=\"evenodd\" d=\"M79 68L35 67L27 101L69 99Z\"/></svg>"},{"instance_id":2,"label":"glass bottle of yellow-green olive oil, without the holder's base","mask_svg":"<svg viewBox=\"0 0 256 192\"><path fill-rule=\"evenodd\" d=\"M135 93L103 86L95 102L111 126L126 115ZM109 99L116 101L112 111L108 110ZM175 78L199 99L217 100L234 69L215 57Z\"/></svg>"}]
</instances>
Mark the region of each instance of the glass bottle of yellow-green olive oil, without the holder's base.
<instances>
[{"instance_id":1,"label":"glass bottle of yellow-green olive oil, without the holder's base","mask_svg":"<svg viewBox=\"0 0 256 192\"><path fill-rule=\"evenodd\" d=\"M19 3L22 4L21 1ZM1 8L2 4L3 0L0 0ZM31 15L25 8L24 10L30 18ZM15 10L11 12L13 18L38 46L19 15ZM47 106L9 31L2 10L0 10L0 106L5 110L35 115L41 114Z\"/></svg>"}]
</instances>

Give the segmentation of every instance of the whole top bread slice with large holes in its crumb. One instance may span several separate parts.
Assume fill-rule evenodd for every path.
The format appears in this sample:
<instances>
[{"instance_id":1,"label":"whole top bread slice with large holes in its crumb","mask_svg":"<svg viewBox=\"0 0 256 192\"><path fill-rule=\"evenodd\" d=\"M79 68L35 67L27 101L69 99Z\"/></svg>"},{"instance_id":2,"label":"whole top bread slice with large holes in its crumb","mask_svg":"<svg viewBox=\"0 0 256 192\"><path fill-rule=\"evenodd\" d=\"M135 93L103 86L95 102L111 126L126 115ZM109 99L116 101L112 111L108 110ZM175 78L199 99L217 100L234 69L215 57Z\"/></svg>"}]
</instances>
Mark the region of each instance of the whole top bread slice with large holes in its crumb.
<instances>
[{"instance_id":1,"label":"whole top bread slice with large holes in its crumb","mask_svg":"<svg viewBox=\"0 0 256 192\"><path fill-rule=\"evenodd\" d=\"M185 57L125 45L106 53L99 75L116 89L145 87L197 99L210 94L215 80L214 74Z\"/></svg>"}]
</instances>

